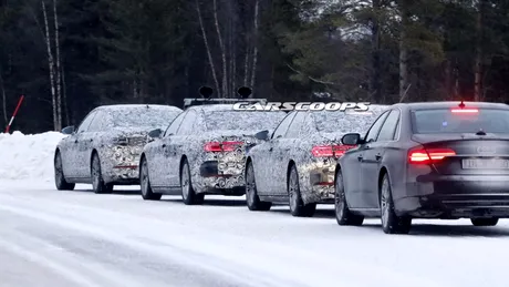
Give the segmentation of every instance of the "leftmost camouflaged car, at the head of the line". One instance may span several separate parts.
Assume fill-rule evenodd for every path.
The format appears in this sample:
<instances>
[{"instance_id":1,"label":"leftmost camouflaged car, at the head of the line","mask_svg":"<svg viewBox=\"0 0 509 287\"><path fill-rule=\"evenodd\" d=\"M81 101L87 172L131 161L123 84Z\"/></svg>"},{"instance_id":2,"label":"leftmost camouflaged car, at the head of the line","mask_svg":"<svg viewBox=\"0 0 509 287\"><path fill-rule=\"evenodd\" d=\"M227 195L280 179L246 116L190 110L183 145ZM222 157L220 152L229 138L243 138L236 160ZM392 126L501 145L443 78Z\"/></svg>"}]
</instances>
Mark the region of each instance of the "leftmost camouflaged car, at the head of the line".
<instances>
[{"instance_id":1,"label":"leftmost camouflaged car, at the head of the line","mask_svg":"<svg viewBox=\"0 0 509 287\"><path fill-rule=\"evenodd\" d=\"M85 116L77 130L56 146L54 157L58 189L75 183L92 183L95 193L113 185L139 184L138 162L147 133L164 127L183 111L166 105L104 105Z\"/></svg>"}]
</instances>

